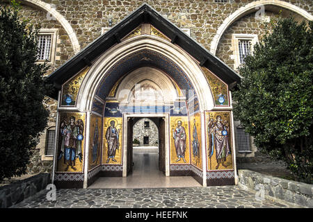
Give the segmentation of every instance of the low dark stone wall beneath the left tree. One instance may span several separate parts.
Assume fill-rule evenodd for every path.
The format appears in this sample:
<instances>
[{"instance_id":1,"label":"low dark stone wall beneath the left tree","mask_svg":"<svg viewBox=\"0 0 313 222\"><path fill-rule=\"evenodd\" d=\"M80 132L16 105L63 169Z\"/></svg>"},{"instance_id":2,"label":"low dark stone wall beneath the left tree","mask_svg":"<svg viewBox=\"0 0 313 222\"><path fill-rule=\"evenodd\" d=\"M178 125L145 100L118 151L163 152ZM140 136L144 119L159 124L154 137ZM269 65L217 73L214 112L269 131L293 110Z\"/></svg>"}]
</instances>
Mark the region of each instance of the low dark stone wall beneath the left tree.
<instances>
[{"instance_id":1,"label":"low dark stone wall beneath the left tree","mask_svg":"<svg viewBox=\"0 0 313 222\"><path fill-rule=\"evenodd\" d=\"M0 187L0 208L10 207L30 198L51 182L49 173L40 173L25 180Z\"/></svg>"}]
</instances>

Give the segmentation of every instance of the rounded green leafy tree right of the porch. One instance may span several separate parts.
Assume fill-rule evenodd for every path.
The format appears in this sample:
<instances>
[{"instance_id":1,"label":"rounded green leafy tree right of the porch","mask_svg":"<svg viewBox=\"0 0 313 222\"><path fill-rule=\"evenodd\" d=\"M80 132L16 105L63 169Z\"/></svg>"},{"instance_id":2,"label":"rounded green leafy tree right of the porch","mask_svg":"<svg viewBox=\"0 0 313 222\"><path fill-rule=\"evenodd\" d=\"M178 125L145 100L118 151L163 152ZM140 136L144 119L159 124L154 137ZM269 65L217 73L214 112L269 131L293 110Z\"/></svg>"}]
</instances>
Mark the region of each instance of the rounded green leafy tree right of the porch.
<instances>
[{"instance_id":1,"label":"rounded green leafy tree right of the porch","mask_svg":"<svg viewBox=\"0 0 313 222\"><path fill-rule=\"evenodd\" d=\"M278 19L239 68L234 114L262 153L312 183L313 22Z\"/></svg>"}]
</instances>

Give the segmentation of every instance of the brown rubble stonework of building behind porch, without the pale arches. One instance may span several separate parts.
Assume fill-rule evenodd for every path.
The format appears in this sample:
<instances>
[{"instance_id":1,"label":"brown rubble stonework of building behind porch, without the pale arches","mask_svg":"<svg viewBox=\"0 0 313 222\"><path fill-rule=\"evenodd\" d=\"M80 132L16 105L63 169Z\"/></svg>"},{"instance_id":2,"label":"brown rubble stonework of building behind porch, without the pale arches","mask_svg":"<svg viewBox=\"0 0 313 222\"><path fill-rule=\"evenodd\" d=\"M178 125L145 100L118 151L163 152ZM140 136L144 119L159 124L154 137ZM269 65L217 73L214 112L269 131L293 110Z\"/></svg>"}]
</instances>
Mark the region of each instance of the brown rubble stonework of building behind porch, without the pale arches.
<instances>
[{"instance_id":1,"label":"brown rubble stonework of building behind porch, without the pale arches","mask_svg":"<svg viewBox=\"0 0 313 222\"><path fill-rule=\"evenodd\" d=\"M254 0L232 0L230 3L215 3L214 0L41 0L45 3L56 6L59 12L73 29L73 35L77 36L81 49L93 42L101 35L102 28L111 28L122 19L127 17L131 12L140 7L143 3L148 3L152 8L157 10L161 15L166 17L170 22L179 28L189 28L191 37L204 46L208 51L211 48L218 27L220 27L227 17L239 8L252 3ZM275 2L276 0L273 0ZM311 0L283 0L291 3L307 12L313 14L313 1ZM22 1L21 14L23 18L29 19L32 24L40 25L41 28L58 28L56 42L56 61L50 66L47 74L63 65L67 60L74 56L74 49L70 37L67 35L65 28L56 20L47 19L47 12L42 8L35 6L28 1L24 4ZM35 0L33 0L35 2ZM1 3L3 4L3 3ZM273 8L272 8L273 9ZM275 17L279 10L268 11L266 16ZM285 10L286 11L286 10ZM286 14L286 13L285 13ZM249 33L259 35L259 40L266 31L264 24L255 21L255 13L250 13L245 17L237 20L227 28L220 39L216 55L220 60L233 68L234 60L232 59L231 35L232 33ZM287 14L286 14L287 15ZM112 19L112 26L109 26L109 19ZM49 127L55 126L57 101L46 99L45 105L51 111L49 116ZM40 155L43 162L38 166L47 165L45 163L45 132L40 137ZM35 162L33 162L35 166ZM32 171L32 170L30 170ZM37 171L37 170L33 170Z\"/></svg>"}]
</instances>

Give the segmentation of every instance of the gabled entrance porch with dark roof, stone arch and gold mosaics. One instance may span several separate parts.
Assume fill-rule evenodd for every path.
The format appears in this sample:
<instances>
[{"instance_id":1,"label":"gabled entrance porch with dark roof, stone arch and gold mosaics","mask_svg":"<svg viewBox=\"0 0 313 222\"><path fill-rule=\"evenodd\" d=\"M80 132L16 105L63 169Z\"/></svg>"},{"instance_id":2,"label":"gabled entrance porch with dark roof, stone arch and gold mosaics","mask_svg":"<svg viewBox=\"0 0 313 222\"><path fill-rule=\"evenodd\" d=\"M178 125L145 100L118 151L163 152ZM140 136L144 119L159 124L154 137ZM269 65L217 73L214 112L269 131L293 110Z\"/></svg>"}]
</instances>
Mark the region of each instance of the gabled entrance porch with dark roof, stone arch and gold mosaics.
<instances>
[{"instance_id":1,"label":"gabled entrance porch with dark roof, stone arch and gold mosaics","mask_svg":"<svg viewBox=\"0 0 313 222\"><path fill-rule=\"evenodd\" d=\"M184 187L192 177L197 185L234 185L229 86L239 80L144 4L49 76L59 101L52 181L87 188L96 180L117 180L115 187L137 180L132 134L147 117L159 131L163 179L155 182Z\"/></svg>"}]
</instances>

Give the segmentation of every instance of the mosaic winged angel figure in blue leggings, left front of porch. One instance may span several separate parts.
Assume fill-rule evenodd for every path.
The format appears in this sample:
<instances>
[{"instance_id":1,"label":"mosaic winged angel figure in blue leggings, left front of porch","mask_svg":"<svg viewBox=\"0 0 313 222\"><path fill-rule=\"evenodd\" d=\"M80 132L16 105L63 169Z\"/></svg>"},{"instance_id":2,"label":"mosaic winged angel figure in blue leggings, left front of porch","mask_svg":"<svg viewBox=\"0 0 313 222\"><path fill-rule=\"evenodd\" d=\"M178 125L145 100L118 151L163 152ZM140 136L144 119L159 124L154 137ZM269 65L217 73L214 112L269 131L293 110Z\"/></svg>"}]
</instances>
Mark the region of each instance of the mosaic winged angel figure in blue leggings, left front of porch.
<instances>
[{"instance_id":1,"label":"mosaic winged angel figure in blue leggings, left front of porch","mask_svg":"<svg viewBox=\"0 0 313 222\"><path fill-rule=\"evenodd\" d=\"M60 160L64 154L64 164L66 164L65 170L69 167L75 168L75 160L77 157L81 162L83 155L81 154L81 140L83 139L83 121L81 119L77 120L75 123L75 117L70 117L70 124L67 124L67 121L64 119L61 122L61 135L62 135L62 144L61 144L61 153L58 156Z\"/></svg>"}]
</instances>

